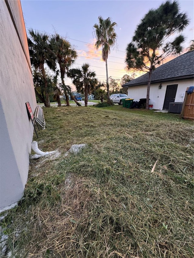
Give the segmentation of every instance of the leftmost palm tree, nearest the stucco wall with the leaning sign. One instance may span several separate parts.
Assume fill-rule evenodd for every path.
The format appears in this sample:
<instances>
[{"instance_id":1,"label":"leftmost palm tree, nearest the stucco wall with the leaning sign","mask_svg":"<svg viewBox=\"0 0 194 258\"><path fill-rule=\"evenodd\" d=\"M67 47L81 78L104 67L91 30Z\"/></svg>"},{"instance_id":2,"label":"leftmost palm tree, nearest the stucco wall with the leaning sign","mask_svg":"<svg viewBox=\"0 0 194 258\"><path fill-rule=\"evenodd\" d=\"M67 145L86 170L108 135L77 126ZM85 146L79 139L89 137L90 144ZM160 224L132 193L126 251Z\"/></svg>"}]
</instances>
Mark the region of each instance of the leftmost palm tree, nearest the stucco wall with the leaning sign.
<instances>
[{"instance_id":1,"label":"leftmost palm tree, nearest the stucco wall with the leaning sign","mask_svg":"<svg viewBox=\"0 0 194 258\"><path fill-rule=\"evenodd\" d=\"M50 107L48 81L45 73L44 64L48 64L49 67L54 67L53 52L49 49L48 39L49 36L46 33L39 33L29 30L30 38L28 38L28 48L30 54L30 60L35 70L39 69L44 79L44 92L45 92L45 107Z\"/></svg>"}]
</instances>

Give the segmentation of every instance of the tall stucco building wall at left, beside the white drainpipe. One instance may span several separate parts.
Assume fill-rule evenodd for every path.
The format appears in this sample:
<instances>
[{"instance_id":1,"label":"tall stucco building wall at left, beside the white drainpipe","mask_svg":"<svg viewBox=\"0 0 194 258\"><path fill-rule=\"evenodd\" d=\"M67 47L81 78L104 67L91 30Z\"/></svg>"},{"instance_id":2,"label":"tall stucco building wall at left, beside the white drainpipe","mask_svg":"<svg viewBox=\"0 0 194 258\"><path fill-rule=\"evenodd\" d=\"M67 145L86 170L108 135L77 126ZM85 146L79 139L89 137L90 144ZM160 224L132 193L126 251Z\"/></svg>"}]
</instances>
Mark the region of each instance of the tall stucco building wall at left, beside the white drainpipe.
<instances>
[{"instance_id":1,"label":"tall stucco building wall at left, beside the white drainpipe","mask_svg":"<svg viewBox=\"0 0 194 258\"><path fill-rule=\"evenodd\" d=\"M20 1L0 1L0 212L22 198L28 178L36 107Z\"/></svg>"}]
</instances>

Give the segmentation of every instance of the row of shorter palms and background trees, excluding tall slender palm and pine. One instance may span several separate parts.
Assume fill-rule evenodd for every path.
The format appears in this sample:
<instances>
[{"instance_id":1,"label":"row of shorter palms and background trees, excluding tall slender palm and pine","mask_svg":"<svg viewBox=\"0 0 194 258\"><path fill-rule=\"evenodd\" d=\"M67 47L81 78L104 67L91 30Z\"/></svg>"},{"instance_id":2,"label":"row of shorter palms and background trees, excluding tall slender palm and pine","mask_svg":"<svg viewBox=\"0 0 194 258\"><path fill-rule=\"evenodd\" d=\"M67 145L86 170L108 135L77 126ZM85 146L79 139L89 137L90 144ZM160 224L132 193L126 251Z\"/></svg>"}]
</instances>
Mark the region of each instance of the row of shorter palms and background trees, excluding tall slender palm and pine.
<instances>
[{"instance_id":1,"label":"row of shorter palms and background trees, excluding tall slender palm and pine","mask_svg":"<svg viewBox=\"0 0 194 258\"><path fill-rule=\"evenodd\" d=\"M50 107L50 100L57 101L61 106L60 96L62 94L65 95L67 106L69 106L69 95L80 106L80 103L72 95L70 86L65 84L65 77L71 78L76 90L84 94L85 106L87 106L90 93L99 99L101 96L103 99L107 99L106 83L97 80L96 73L90 70L89 64L85 63L81 68L71 68L78 54L69 41L59 34L49 36L32 29L28 32L35 93L37 100L43 102L45 107ZM117 79L112 77L109 79L111 93L122 90L118 89ZM121 81L125 83L131 79L132 77L126 74Z\"/></svg>"}]
</instances>

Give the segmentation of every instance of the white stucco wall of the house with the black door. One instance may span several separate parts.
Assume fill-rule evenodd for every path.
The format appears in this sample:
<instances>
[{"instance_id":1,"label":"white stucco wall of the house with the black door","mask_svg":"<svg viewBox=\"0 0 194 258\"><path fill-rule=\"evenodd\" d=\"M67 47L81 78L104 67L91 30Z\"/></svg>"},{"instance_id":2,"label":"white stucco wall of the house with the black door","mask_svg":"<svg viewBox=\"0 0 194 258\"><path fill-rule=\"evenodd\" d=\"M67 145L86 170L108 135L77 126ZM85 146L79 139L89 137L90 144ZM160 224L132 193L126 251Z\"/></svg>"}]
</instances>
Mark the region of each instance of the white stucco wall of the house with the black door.
<instances>
[{"instance_id":1,"label":"white stucco wall of the house with the black door","mask_svg":"<svg viewBox=\"0 0 194 258\"><path fill-rule=\"evenodd\" d=\"M149 104L153 105L153 109L162 110L167 85L178 84L175 102L183 102L186 88L193 86L193 79L162 82L162 89L159 89L159 84L160 83L155 83L150 85ZM183 97L181 97L182 93L184 93ZM134 99L134 101L146 98L146 95L147 85L128 87L128 97Z\"/></svg>"}]
</instances>

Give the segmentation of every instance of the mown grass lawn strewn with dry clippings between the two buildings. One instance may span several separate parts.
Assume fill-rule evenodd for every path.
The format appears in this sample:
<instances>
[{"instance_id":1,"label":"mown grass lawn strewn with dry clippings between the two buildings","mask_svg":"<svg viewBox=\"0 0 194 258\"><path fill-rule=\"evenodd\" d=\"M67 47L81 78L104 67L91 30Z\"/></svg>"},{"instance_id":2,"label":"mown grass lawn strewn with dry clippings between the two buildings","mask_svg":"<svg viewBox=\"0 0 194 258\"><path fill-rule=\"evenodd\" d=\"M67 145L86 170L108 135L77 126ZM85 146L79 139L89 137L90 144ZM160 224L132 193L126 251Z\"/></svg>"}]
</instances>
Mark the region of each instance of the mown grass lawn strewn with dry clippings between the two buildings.
<instances>
[{"instance_id":1,"label":"mown grass lawn strewn with dry clippings between the two buildings","mask_svg":"<svg viewBox=\"0 0 194 258\"><path fill-rule=\"evenodd\" d=\"M44 108L24 198L2 220L15 257L193 257L193 123L179 115ZM65 156L72 144L82 152ZM6 256L5 256L6 257Z\"/></svg>"}]
</instances>

